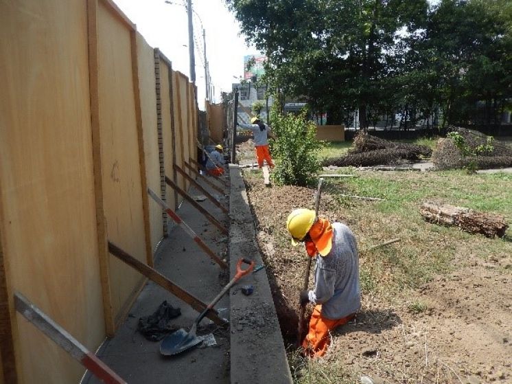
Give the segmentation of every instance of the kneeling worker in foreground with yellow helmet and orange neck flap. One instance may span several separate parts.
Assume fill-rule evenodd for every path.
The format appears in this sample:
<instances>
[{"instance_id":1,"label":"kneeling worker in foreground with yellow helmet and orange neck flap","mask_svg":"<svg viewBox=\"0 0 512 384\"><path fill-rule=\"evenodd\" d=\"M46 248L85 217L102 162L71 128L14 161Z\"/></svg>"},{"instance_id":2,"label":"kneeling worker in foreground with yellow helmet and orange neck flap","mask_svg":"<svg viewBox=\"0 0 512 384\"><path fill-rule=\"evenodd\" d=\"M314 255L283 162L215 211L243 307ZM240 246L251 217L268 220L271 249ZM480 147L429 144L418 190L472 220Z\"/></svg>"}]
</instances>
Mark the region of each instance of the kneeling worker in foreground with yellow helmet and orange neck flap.
<instances>
[{"instance_id":1,"label":"kneeling worker in foreground with yellow helmet and orange neck flap","mask_svg":"<svg viewBox=\"0 0 512 384\"><path fill-rule=\"evenodd\" d=\"M356 238L347 225L315 219L312 210L294 210L286 227L292 244L304 242L307 254L316 258L314 289L301 291L299 300L315 304L302 342L305 354L321 357L331 342L330 331L351 321L361 307Z\"/></svg>"}]
</instances>

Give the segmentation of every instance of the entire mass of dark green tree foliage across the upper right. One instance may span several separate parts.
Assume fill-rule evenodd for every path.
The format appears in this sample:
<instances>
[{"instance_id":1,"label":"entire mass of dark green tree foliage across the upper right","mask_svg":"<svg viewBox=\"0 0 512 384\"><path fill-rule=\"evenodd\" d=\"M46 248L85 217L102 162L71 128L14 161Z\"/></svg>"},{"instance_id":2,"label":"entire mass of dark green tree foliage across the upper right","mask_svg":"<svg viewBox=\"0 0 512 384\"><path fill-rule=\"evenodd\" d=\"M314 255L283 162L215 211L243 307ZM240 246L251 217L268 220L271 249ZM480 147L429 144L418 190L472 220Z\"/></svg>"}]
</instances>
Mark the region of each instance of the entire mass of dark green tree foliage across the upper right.
<instances>
[{"instance_id":1,"label":"entire mass of dark green tree foliage across the upper right","mask_svg":"<svg viewBox=\"0 0 512 384\"><path fill-rule=\"evenodd\" d=\"M270 86L327 111L358 109L364 128L402 112L404 126L496 122L512 100L509 0L226 0L268 56ZM369 121L367 121L369 120Z\"/></svg>"}]
</instances>

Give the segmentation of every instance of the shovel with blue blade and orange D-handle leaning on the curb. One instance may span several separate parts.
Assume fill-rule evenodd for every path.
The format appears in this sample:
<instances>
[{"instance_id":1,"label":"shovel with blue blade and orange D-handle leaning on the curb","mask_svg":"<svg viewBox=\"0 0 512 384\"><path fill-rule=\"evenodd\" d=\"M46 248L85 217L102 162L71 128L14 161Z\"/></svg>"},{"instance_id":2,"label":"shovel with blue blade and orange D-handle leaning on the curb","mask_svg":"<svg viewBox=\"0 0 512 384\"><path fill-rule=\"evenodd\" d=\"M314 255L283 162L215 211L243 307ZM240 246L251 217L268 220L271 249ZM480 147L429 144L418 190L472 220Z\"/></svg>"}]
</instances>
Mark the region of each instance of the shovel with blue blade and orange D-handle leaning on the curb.
<instances>
[{"instance_id":1,"label":"shovel with blue blade and orange D-handle leaning on the curb","mask_svg":"<svg viewBox=\"0 0 512 384\"><path fill-rule=\"evenodd\" d=\"M242 269L242 262L249 264L249 267L247 269ZM220 291L216 298L213 299L210 304L208 304L205 310L202 311L202 313L197 317L196 321L194 321L194 324L192 324L189 332L187 332L183 328L180 328L176 330L176 332L172 332L172 334L165 337L160 344L160 353L163 354L164 356L172 356L173 354L178 354L197 346L202 341L200 337L196 336L196 330L202 318L207 315L209 310L213 309L213 306L217 304L220 298L224 296L224 294L227 291L229 291L229 289L231 288L231 286L233 286L233 284L235 284L235 282L240 280L242 276L251 273L253 271L253 268L253 261L249 261L246 259L238 260L237 273L235 274L235 277L226 286L224 286L224 289L222 289L222 291Z\"/></svg>"}]
</instances>

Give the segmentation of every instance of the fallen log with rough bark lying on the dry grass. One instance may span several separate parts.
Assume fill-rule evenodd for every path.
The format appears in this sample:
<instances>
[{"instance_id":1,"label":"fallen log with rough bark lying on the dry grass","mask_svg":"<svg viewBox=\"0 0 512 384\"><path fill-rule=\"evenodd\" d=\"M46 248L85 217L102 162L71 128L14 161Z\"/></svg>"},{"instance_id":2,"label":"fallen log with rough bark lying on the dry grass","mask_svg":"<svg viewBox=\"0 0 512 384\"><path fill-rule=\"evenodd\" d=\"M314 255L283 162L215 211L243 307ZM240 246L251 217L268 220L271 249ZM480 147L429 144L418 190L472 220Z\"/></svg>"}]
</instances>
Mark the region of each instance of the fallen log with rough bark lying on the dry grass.
<instances>
[{"instance_id":1,"label":"fallen log with rough bark lying on the dry grass","mask_svg":"<svg viewBox=\"0 0 512 384\"><path fill-rule=\"evenodd\" d=\"M484 214L466 207L427 202L421 205L419 212L430 223L459 227L471 234L483 234L489 238L503 237L509 228L504 216Z\"/></svg>"}]
</instances>

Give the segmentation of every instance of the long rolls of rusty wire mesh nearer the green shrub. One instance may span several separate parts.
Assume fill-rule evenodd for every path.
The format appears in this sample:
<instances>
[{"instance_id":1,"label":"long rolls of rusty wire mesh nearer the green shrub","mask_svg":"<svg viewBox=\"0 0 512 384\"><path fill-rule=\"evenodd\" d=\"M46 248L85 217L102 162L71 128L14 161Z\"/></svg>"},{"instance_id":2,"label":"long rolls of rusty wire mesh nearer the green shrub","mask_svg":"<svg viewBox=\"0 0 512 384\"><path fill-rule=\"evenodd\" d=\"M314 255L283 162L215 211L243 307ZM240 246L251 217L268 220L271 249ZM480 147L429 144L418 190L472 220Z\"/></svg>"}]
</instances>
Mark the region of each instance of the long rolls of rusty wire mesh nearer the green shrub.
<instances>
[{"instance_id":1,"label":"long rolls of rusty wire mesh nearer the green shrub","mask_svg":"<svg viewBox=\"0 0 512 384\"><path fill-rule=\"evenodd\" d=\"M395 143L367 133L358 133L347 155L325 159L323 166L359 167L398 164L404 161L417 161L421 156L428 157L431 154L432 150L428 146Z\"/></svg>"}]
</instances>

